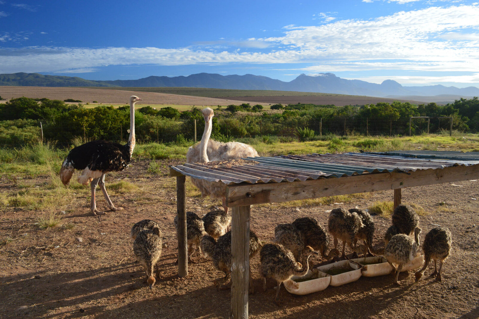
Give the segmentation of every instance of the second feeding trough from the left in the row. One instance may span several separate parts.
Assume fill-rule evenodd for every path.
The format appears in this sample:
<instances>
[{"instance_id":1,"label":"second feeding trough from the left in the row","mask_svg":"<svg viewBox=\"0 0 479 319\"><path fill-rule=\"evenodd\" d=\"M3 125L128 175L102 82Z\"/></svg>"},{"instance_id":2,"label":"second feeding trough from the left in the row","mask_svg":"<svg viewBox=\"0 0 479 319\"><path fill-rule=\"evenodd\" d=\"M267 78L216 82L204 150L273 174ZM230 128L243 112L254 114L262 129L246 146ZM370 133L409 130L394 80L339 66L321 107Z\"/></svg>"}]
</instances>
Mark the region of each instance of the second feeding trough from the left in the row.
<instances>
[{"instance_id":1,"label":"second feeding trough from the left in the row","mask_svg":"<svg viewBox=\"0 0 479 319\"><path fill-rule=\"evenodd\" d=\"M331 277L331 286L352 283L361 277L361 265L351 260L333 262L329 265L319 266L317 269L320 274Z\"/></svg>"}]
</instances>

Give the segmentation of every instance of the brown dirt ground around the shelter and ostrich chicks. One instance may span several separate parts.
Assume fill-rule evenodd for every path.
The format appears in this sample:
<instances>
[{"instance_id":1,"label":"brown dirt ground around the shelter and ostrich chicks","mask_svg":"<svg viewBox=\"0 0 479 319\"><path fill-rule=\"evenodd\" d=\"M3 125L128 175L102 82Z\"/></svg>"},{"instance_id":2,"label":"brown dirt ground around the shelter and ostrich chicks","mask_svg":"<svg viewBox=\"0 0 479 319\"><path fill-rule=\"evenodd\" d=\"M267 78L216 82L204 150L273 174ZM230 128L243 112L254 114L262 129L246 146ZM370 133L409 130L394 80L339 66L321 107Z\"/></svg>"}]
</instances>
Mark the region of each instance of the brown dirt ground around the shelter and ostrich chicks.
<instances>
[{"instance_id":1,"label":"brown dirt ground around the shelter and ostrich chicks","mask_svg":"<svg viewBox=\"0 0 479 319\"><path fill-rule=\"evenodd\" d=\"M125 210L108 212L101 219L89 212L89 188L76 192L63 215L64 226L53 229L39 229L34 224L42 213L50 212L1 207L0 318L228 318L230 291L215 289L213 279L222 273L209 260L196 254L197 263L189 265L189 275L177 276L173 264L177 251L173 226L176 189L166 166L177 163L160 163L164 166L159 175L147 172L147 161L136 161L126 171L107 176L107 185L121 179L139 189L126 194L112 192L112 201ZM34 182L47 182L47 177L35 177ZM478 318L478 185L479 181L473 180L402 191L403 202L421 206L426 212L421 216L421 242L437 224L448 226L453 234L442 282L427 278L433 271L429 268L418 283L414 283L412 271L401 273L400 286L393 284L393 275L386 275L362 277L304 296L291 295L282 287L278 307L274 281L269 279L267 291L262 291L259 257L255 257L251 264L256 292L249 297L250 318ZM0 189L19 190L6 179L0 181ZM101 192L97 194L97 205L106 209ZM312 216L326 226L326 210L356 205L367 208L375 201L392 198L391 190L365 194L363 199L343 204L252 206L251 229L269 242L276 224ZM187 209L200 216L215 205L219 201L187 198ZM129 237L131 226L145 218L162 225L169 245L160 258L159 279L153 290L144 283L145 274L133 257ZM373 219L374 244L380 248L390 219Z\"/></svg>"}]
</instances>

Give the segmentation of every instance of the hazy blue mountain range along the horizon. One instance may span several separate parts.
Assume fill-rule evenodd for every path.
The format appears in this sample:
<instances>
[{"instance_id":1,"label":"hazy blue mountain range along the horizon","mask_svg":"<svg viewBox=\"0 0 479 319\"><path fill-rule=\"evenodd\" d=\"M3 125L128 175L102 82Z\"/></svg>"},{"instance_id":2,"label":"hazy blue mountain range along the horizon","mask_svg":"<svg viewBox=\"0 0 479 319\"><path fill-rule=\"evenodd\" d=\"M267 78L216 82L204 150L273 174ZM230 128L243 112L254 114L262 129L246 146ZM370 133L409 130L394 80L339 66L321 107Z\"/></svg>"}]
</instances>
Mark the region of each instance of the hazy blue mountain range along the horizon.
<instances>
[{"instance_id":1,"label":"hazy blue mountain range along the horizon","mask_svg":"<svg viewBox=\"0 0 479 319\"><path fill-rule=\"evenodd\" d=\"M346 80L333 73L319 73L317 76L299 75L290 82L275 80L261 75L220 75L198 73L189 76L149 76L138 80L93 81L79 77L43 75L39 73L0 74L0 85L14 86L103 86L103 87L204 87L236 90L274 90L317 92L367 96L434 96L458 95L479 96L474 86L427 85L402 86L396 81L386 80L381 84L361 80Z\"/></svg>"}]
</instances>

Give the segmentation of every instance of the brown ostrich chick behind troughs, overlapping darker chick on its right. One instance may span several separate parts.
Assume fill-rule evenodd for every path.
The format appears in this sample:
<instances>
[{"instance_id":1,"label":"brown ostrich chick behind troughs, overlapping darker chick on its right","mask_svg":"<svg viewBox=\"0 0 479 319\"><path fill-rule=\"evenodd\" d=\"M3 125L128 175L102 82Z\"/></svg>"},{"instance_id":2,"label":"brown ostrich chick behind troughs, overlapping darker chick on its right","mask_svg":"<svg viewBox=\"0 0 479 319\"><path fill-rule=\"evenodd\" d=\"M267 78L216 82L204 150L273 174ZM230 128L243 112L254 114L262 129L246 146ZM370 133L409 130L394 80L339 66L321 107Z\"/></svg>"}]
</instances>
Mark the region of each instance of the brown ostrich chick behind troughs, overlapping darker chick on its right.
<instances>
[{"instance_id":1,"label":"brown ostrich chick behind troughs, overlapping darker chick on its right","mask_svg":"<svg viewBox=\"0 0 479 319\"><path fill-rule=\"evenodd\" d=\"M344 253L346 243L354 252L366 255L367 247L364 245L353 247L354 237L362 226L363 222L361 221L361 217L355 212L350 213L343 208L335 208L331 211L328 228L334 237L334 248L337 248L338 240L342 240L342 258L346 258Z\"/></svg>"}]
</instances>

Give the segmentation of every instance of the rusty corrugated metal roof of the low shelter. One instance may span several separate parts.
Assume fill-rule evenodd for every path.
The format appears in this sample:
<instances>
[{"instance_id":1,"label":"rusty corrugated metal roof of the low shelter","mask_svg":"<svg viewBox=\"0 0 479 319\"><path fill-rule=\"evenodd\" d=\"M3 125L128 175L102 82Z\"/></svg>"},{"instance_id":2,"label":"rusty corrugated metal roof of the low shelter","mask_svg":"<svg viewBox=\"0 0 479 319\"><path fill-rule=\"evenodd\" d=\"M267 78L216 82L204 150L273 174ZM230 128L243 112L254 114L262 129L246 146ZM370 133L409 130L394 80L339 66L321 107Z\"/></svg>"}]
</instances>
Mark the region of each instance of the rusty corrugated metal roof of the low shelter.
<instances>
[{"instance_id":1,"label":"rusty corrugated metal roof of the low shelter","mask_svg":"<svg viewBox=\"0 0 479 319\"><path fill-rule=\"evenodd\" d=\"M399 151L402 152L402 151ZM439 155L436 155L436 158ZM247 161L254 161L248 164ZM479 160L479 157L478 157ZM248 157L227 162L171 166L182 175L221 181L227 185L241 182L282 182L327 177L343 177L379 172L410 172L418 169L442 169L455 165L474 165L479 161L421 159L409 156L345 153ZM228 163L228 165L224 165Z\"/></svg>"}]
</instances>

